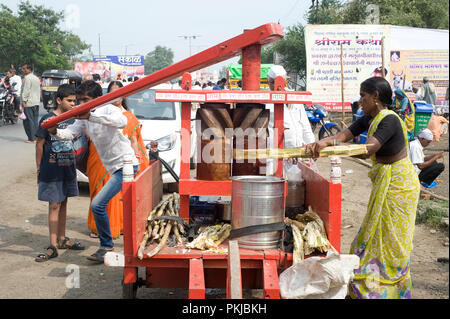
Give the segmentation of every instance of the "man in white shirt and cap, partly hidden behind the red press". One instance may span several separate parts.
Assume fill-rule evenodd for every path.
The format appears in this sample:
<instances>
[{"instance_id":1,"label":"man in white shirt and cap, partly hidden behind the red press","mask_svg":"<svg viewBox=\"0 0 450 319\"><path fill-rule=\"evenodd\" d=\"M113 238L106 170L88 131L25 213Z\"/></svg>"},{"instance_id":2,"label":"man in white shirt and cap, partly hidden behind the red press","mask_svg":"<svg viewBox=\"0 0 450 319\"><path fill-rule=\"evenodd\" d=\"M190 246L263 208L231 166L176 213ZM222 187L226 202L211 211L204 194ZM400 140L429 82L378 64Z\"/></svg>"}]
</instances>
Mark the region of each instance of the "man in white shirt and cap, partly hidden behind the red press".
<instances>
[{"instance_id":1,"label":"man in white shirt and cap, partly hidden behind the red press","mask_svg":"<svg viewBox=\"0 0 450 319\"><path fill-rule=\"evenodd\" d=\"M281 65L274 65L270 68L267 74L270 90L275 89L275 78L282 76L287 79L286 70ZM269 120L269 140L268 147L274 147L274 105L267 104L266 109L270 110ZM303 145L314 143L315 136L311 129L308 116L306 115L305 107L302 104L285 104L284 105L284 148L296 148ZM296 161L294 161L296 162ZM273 160L267 160L266 175L274 175L275 167Z\"/></svg>"}]
</instances>

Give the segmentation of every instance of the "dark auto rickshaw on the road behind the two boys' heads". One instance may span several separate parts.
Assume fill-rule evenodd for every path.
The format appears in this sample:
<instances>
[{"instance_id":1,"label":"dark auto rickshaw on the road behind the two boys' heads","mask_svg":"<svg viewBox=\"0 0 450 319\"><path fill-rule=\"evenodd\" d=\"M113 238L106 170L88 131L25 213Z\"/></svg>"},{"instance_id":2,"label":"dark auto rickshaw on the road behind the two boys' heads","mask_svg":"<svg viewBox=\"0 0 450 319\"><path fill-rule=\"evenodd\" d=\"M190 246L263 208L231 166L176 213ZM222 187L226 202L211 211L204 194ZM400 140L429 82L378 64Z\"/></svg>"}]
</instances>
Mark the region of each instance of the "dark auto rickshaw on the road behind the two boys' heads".
<instances>
[{"instance_id":1,"label":"dark auto rickshaw on the road behind the two boys' heads","mask_svg":"<svg viewBox=\"0 0 450 319\"><path fill-rule=\"evenodd\" d=\"M73 70L48 70L42 73L42 103L47 112L56 107L56 92L61 84L70 84L76 89L83 77Z\"/></svg>"}]
</instances>

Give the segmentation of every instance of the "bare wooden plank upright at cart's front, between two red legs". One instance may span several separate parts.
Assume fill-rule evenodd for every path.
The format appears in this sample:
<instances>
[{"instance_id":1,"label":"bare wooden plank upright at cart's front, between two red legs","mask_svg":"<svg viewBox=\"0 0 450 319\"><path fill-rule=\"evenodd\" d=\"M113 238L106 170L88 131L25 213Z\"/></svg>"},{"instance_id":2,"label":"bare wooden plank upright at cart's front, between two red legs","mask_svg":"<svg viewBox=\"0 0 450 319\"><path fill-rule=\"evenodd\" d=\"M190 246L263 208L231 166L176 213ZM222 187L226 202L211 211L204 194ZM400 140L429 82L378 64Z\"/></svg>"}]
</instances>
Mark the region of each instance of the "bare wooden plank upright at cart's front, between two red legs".
<instances>
[{"instance_id":1,"label":"bare wooden plank upright at cart's front, between two red legs","mask_svg":"<svg viewBox=\"0 0 450 319\"><path fill-rule=\"evenodd\" d=\"M227 299L242 299L241 260L237 240L228 242Z\"/></svg>"}]
</instances>

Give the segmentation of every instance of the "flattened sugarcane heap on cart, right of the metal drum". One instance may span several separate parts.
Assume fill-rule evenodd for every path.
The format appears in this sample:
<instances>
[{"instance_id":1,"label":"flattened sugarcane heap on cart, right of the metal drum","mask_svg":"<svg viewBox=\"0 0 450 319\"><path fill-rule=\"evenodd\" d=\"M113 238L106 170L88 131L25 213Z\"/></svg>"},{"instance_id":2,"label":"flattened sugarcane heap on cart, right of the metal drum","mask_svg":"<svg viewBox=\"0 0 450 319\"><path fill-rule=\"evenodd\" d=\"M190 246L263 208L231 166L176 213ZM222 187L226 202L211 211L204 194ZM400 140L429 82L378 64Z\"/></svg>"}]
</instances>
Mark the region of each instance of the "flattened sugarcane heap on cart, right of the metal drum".
<instances>
[{"instance_id":1,"label":"flattened sugarcane heap on cart, right of the metal drum","mask_svg":"<svg viewBox=\"0 0 450 319\"><path fill-rule=\"evenodd\" d=\"M322 219L311 207L308 212L298 214L294 219L286 218L285 223L292 228L294 238L293 263L302 261L305 256L315 251L326 253L335 250L328 241Z\"/></svg>"}]
</instances>

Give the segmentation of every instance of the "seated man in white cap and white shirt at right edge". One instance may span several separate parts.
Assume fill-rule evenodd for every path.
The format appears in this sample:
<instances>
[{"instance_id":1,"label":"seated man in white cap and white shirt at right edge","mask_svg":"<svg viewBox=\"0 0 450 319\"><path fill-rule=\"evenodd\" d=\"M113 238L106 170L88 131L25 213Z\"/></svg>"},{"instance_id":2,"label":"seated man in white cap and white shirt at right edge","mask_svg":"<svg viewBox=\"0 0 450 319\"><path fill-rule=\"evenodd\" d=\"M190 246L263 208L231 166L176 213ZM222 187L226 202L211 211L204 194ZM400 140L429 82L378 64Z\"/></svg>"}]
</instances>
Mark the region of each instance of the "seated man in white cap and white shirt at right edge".
<instances>
[{"instance_id":1,"label":"seated man in white cap and white shirt at right edge","mask_svg":"<svg viewBox=\"0 0 450 319\"><path fill-rule=\"evenodd\" d=\"M444 156L444 152L434 155L425 156L423 149L433 141L433 133L429 129L423 129L419 132L418 138L409 144L409 156L411 162L419 174L419 180L426 188L436 186L434 181L443 171L444 164L438 163L437 160Z\"/></svg>"}]
</instances>

